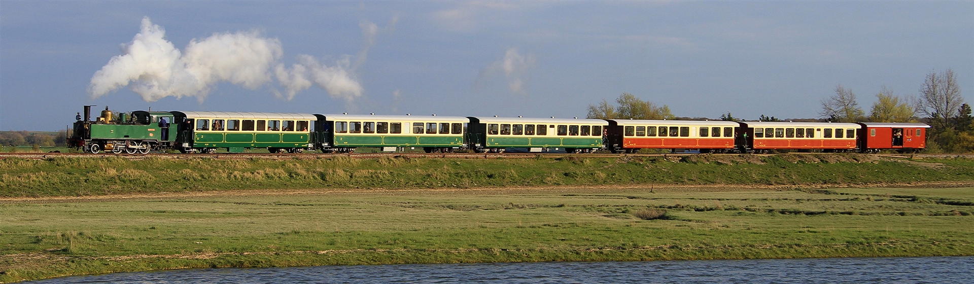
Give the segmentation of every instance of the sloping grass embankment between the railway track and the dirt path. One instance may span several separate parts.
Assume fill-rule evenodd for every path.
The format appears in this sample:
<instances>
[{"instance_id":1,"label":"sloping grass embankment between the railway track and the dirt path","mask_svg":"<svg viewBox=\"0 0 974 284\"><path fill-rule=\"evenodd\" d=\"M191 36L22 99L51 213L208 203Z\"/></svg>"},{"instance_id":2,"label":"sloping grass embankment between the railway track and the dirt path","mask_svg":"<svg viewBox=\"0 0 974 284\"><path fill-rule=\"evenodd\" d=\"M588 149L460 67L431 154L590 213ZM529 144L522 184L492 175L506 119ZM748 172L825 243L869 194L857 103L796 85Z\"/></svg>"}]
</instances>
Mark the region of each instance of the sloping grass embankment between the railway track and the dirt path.
<instances>
[{"instance_id":1,"label":"sloping grass embankment between the railway track and the dirt path","mask_svg":"<svg viewBox=\"0 0 974 284\"><path fill-rule=\"evenodd\" d=\"M871 155L596 159L0 160L0 196L254 189L414 189L593 185L864 185L974 181L974 160Z\"/></svg>"}]
</instances>

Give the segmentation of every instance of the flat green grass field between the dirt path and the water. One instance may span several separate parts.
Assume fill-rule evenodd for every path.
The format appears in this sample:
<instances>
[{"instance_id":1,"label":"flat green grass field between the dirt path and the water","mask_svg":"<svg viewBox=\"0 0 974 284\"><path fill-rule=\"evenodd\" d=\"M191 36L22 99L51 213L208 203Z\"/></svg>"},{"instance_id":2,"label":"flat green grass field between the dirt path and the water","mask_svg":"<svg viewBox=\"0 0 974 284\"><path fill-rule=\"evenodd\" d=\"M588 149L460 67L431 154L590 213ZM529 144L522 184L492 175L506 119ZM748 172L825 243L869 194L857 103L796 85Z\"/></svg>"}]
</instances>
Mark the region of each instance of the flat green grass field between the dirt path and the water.
<instances>
[{"instance_id":1,"label":"flat green grass field between the dirt path and the water","mask_svg":"<svg viewBox=\"0 0 974 284\"><path fill-rule=\"evenodd\" d=\"M156 195L166 196L0 201L0 280L211 266L974 255L974 188ZM665 213L636 217L648 210Z\"/></svg>"}]
</instances>

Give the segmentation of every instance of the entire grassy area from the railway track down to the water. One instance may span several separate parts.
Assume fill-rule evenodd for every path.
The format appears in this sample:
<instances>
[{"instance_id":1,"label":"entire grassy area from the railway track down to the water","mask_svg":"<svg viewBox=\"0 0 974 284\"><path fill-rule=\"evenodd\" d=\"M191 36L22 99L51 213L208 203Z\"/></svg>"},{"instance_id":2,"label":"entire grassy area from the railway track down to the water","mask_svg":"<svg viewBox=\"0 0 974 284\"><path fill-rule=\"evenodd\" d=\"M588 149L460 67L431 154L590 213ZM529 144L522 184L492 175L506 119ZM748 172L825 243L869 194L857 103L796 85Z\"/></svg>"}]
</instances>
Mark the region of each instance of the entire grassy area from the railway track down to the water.
<instances>
[{"instance_id":1,"label":"entire grassy area from the railway track down to the water","mask_svg":"<svg viewBox=\"0 0 974 284\"><path fill-rule=\"evenodd\" d=\"M7 158L0 172L0 282L183 267L974 255L974 188L956 188L974 183L966 159Z\"/></svg>"}]
</instances>

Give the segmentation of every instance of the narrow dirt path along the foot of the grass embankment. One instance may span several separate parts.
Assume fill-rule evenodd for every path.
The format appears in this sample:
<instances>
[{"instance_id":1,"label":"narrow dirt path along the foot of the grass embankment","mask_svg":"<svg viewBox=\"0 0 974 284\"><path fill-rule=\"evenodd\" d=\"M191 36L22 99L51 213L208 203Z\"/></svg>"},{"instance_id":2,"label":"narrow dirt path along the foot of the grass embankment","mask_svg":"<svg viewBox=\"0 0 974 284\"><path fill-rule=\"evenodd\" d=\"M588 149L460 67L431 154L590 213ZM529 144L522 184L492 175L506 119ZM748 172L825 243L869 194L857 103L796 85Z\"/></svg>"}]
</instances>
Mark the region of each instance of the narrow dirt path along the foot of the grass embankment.
<instances>
[{"instance_id":1,"label":"narrow dirt path along the foot of the grass embankment","mask_svg":"<svg viewBox=\"0 0 974 284\"><path fill-rule=\"evenodd\" d=\"M745 191L786 191L797 188L835 189L835 188L961 188L974 187L974 182L912 182L912 183L867 183L867 184L815 184L815 185L606 185L606 186L543 186L543 187L492 187L492 188L433 188L433 189L299 189L299 190L230 190L206 192L145 193L126 195L85 195L85 196L42 196L42 197L0 197L0 203L44 203L44 202L85 202L113 201L139 198L206 197L206 196L250 196L250 195L401 195L423 193L452 194L517 194L529 192L592 193L619 191L655 191L660 193L708 193Z\"/></svg>"}]
</instances>

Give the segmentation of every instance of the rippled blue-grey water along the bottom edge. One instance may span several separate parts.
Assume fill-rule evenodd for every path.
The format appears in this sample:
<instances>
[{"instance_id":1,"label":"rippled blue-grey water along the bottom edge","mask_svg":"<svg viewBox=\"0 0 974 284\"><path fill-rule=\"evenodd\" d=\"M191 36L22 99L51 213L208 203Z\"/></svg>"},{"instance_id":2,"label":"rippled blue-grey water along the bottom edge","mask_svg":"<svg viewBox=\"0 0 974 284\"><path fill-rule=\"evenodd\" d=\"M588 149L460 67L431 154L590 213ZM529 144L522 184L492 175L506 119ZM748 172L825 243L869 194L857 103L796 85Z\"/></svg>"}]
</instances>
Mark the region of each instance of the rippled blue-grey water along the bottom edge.
<instances>
[{"instance_id":1,"label":"rippled blue-grey water along the bottom edge","mask_svg":"<svg viewBox=\"0 0 974 284\"><path fill-rule=\"evenodd\" d=\"M974 257L207 268L34 283L971 283Z\"/></svg>"}]
</instances>

